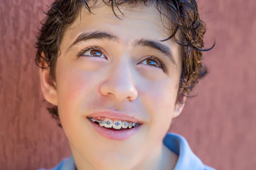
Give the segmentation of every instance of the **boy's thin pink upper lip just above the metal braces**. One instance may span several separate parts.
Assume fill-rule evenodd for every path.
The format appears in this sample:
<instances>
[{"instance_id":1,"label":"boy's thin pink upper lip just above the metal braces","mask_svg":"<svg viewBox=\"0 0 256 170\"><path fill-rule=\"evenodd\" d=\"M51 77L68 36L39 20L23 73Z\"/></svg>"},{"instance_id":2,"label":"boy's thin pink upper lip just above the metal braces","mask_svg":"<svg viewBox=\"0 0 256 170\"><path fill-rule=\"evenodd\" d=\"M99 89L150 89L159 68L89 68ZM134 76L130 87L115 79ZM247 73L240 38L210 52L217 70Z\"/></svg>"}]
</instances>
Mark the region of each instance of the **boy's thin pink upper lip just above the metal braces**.
<instances>
[{"instance_id":1,"label":"boy's thin pink upper lip just above the metal braces","mask_svg":"<svg viewBox=\"0 0 256 170\"><path fill-rule=\"evenodd\" d=\"M134 123L143 123L142 120L137 119L134 116L128 115L127 113L116 111L96 111L90 113L87 117L106 117L108 119L124 120Z\"/></svg>"}]
</instances>

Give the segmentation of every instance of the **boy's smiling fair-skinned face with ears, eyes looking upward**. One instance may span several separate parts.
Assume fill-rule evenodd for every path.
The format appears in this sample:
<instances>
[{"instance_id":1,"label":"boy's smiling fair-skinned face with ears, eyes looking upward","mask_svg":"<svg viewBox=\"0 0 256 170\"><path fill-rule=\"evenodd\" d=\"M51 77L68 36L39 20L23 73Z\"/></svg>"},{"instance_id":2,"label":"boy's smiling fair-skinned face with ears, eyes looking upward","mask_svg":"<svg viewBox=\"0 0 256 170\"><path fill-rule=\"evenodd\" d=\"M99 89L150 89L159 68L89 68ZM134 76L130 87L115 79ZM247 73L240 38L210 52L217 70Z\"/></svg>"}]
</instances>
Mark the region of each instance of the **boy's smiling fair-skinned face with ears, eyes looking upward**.
<instances>
[{"instance_id":1,"label":"boy's smiling fair-skinned face with ears, eyes looking upward","mask_svg":"<svg viewBox=\"0 0 256 170\"><path fill-rule=\"evenodd\" d=\"M83 9L61 41L56 88L48 81L49 72L41 70L43 94L58 105L75 160L96 169L131 169L157 154L172 119L182 110L175 105L182 59L175 42L160 42L169 31L157 9L121 10L124 17L116 13L122 20L107 6L93 8L93 14ZM92 33L97 35L90 37ZM87 34L87 40L73 44L81 34ZM167 47L169 54L164 53ZM118 131L88 117L141 125Z\"/></svg>"}]
</instances>

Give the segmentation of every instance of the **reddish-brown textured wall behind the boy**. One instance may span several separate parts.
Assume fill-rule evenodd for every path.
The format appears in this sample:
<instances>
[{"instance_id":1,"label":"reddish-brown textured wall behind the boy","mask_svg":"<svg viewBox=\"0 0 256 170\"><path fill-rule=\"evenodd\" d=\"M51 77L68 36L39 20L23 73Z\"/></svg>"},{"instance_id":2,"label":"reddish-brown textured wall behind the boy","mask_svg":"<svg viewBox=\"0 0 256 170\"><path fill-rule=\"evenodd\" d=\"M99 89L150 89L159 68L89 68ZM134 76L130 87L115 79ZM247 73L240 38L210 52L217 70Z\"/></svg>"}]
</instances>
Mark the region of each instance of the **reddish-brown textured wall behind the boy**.
<instances>
[{"instance_id":1,"label":"reddish-brown textured wall behind the boy","mask_svg":"<svg viewBox=\"0 0 256 170\"><path fill-rule=\"evenodd\" d=\"M69 156L64 133L46 111L34 64L35 32L49 0L0 0L0 170L52 167ZM256 3L199 0L207 23L210 74L173 122L218 170L256 167ZM253 131L254 130L254 131Z\"/></svg>"}]
</instances>

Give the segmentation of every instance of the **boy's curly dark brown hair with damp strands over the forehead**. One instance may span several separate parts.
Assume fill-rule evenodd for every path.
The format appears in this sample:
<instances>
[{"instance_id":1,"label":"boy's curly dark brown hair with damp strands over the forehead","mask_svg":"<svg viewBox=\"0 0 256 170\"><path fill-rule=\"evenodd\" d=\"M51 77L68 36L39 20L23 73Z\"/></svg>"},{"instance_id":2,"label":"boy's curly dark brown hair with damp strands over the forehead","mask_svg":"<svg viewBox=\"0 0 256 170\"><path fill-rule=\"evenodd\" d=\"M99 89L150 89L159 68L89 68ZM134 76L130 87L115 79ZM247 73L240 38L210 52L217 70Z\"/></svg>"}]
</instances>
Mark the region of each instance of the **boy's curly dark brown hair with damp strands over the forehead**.
<instances>
[{"instance_id":1,"label":"boy's curly dark brown hair with damp strands over the forehead","mask_svg":"<svg viewBox=\"0 0 256 170\"><path fill-rule=\"evenodd\" d=\"M119 6L124 4L128 4L131 8L141 4L144 6L154 5L161 14L161 20L165 17L170 21L169 26L165 26L170 31L170 36L162 41L173 39L182 48L183 68L178 85L176 102L183 102L183 96L188 96L198 83L198 79L203 78L208 73L207 67L201 62L202 51L208 51L215 45L209 49L203 49L203 37L206 31L206 25L200 19L195 0L102 1L105 5L112 8L115 15L115 10L119 10ZM79 16L82 7L85 7L87 11L92 13L90 9L96 7L96 1L55 0L49 7L49 11L45 12L47 17L41 22L42 27L39 29L36 42L37 54L35 62L38 67L49 69L50 78L53 81L55 80L57 57L60 55L61 39L67 28ZM116 15L116 17L118 16ZM178 36L175 36L177 33ZM45 57L42 56L42 52ZM48 67L42 67L42 59L47 63ZM59 120L57 106L48 108L48 111L55 119ZM58 125L61 126L60 122Z\"/></svg>"}]
</instances>

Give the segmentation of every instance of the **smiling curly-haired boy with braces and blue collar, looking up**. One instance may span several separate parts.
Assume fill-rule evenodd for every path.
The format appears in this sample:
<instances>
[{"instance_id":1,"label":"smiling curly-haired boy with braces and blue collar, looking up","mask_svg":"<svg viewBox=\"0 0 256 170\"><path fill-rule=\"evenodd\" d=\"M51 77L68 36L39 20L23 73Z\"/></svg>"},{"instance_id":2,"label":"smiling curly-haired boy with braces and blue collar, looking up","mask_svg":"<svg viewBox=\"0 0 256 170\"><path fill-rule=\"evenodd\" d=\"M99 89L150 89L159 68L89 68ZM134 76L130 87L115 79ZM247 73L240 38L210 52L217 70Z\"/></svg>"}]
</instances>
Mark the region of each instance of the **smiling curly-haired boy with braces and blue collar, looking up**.
<instances>
[{"instance_id":1,"label":"smiling curly-haired boy with braces and blue collar, looking up","mask_svg":"<svg viewBox=\"0 0 256 170\"><path fill-rule=\"evenodd\" d=\"M195 0L56 0L36 62L72 155L53 170L212 170L167 133L207 74Z\"/></svg>"}]
</instances>

